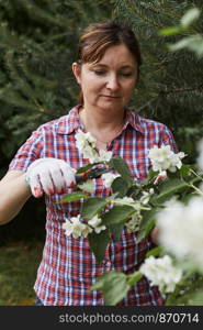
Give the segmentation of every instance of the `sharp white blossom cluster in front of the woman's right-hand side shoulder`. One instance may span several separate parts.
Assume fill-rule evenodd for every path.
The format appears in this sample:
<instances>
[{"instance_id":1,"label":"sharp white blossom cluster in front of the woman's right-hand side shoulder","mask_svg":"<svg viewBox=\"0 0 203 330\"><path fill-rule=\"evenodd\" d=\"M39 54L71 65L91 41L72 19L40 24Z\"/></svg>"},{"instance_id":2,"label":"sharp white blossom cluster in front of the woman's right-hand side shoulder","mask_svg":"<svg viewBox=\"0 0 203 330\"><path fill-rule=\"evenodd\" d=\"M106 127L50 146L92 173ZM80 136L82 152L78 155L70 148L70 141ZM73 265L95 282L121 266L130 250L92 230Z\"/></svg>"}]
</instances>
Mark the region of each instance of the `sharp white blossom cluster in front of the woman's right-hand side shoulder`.
<instances>
[{"instance_id":1,"label":"sharp white blossom cluster in front of the woman's right-hand side shoulder","mask_svg":"<svg viewBox=\"0 0 203 330\"><path fill-rule=\"evenodd\" d=\"M162 172L169 169L170 172L176 172L177 167L181 168L181 160L185 154L182 152L174 154L170 145L162 145L161 147L155 145L149 150L148 156L151 161L153 170Z\"/></svg>"}]
</instances>

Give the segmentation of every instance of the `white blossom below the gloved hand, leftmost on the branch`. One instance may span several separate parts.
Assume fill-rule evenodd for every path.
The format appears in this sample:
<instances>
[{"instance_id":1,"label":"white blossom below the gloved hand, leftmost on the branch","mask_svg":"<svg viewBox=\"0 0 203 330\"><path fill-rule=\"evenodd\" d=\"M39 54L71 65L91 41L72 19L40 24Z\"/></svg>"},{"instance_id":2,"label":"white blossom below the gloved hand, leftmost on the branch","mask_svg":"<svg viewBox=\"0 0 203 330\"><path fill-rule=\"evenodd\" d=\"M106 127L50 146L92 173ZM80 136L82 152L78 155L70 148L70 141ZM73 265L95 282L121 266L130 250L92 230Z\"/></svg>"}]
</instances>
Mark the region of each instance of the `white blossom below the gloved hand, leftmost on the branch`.
<instances>
[{"instance_id":1,"label":"white blossom below the gloved hand, leftmost on the branch","mask_svg":"<svg viewBox=\"0 0 203 330\"><path fill-rule=\"evenodd\" d=\"M66 222L63 223L63 229L67 237L72 234L75 239L80 237L87 238L88 233L92 231L87 224L80 222L80 215L71 219L66 219Z\"/></svg>"}]
</instances>

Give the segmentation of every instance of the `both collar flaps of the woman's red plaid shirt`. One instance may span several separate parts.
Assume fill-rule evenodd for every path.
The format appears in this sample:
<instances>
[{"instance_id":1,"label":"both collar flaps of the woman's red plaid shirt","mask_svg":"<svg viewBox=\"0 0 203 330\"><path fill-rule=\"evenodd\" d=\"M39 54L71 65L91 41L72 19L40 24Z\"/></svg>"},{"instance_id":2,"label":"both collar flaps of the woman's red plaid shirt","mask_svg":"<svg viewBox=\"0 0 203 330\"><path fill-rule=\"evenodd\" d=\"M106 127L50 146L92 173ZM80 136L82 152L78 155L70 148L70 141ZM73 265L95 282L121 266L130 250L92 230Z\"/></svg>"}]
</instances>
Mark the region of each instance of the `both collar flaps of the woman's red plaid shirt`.
<instances>
[{"instance_id":1,"label":"both collar flaps of the woman's red plaid shirt","mask_svg":"<svg viewBox=\"0 0 203 330\"><path fill-rule=\"evenodd\" d=\"M64 116L59 119L57 128L57 132L59 134L70 134L74 131L78 131L79 129L81 129L81 123L78 114L78 110L80 107L80 105L76 106L69 111L68 116ZM126 109L123 130L125 130L128 124L136 131L144 133L140 117L135 111Z\"/></svg>"}]
</instances>

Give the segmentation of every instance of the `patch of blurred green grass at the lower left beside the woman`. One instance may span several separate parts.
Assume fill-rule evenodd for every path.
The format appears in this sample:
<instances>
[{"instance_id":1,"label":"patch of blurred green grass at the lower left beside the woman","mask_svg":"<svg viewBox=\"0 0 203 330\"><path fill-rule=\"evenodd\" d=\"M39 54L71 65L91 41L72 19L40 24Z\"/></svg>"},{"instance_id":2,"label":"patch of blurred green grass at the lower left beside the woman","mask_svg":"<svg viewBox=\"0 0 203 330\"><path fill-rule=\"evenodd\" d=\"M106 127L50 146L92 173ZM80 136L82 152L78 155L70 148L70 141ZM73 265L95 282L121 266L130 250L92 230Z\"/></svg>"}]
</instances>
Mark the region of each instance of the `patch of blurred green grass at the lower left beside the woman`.
<instances>
[{"instance_id":1,"label":"patch of blurred green grass at the lower left beside the woman","mask_svg":"<svg viewBox=\"0 0 203 330\"><path fill-rule=\"evenodd\" d=\"M33 289L44 242L15 242L0 248L0 306L35 304Z\"/></svg>"}]
</instances>

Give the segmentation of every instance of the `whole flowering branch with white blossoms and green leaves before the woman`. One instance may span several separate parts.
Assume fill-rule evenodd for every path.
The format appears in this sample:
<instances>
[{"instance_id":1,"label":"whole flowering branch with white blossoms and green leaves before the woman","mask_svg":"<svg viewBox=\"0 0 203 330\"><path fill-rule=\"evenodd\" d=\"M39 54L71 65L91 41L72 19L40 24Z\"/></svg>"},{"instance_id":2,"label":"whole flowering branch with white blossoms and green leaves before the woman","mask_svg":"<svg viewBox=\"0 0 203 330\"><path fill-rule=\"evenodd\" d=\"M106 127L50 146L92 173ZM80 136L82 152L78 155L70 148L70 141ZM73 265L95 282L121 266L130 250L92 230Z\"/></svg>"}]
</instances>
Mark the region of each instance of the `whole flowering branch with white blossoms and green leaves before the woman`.
<instances>
[{"instance_id":1,"label":"whole flowering branch with white blossoms and green leaves before the woman","mask_svg":"<svg viewBox=\"0 0 203 330\"><path fill-rule=\"evenodd\" d=\"M83 199L78 217L65 219L65 233L88 239L97 262L101 263L111 237L119 241L124 227L128 232L136 231L138 241L149 235L155 226L160 232L161 249L146 255L137 272L129 275L115 271L104 273L91 289L102 290L105 304L115 305L143 276L148 277L151 286L158 285L162 293L170 294L187 276L185 261L203 273L203 191L198 186L203 176L193 169L194 166L182 164L185 154L174 154L170 145L155 145L148 153L149 174L138 183L121 157L95 148L90 133L79 131L76 139L79 152L90 164L77 170L87 182L77 184L76 191L61 200ZM203 146L201 153L199 167L203 168ZM98 165L103 167L97 168ZM110 197L91 196L94 191L91 179L98 176L112 190ZM196 196L187 205L191 190ZM180 265L180 261L184 261L183 268L177 267L177 260ZM120 289L115 289L117 285Z\"/></svg>"}]
</instances>

